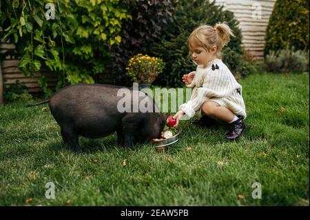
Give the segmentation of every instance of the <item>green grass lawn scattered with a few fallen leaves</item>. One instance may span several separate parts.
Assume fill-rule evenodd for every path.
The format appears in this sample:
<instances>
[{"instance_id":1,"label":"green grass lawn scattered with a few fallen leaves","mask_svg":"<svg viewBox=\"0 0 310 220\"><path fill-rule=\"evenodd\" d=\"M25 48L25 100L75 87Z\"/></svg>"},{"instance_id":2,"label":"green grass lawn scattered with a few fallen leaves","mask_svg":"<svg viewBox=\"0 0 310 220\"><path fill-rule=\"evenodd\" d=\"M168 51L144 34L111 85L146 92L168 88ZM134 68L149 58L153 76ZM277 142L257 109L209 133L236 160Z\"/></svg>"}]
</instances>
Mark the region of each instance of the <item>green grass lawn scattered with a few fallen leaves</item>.
<instances>
[{"instance_id":1,"label":"green grass lawn scattered with a few fallen leaves","mask_svg":"<svg viewBox=\"0 0 310 220\"><path fill-rule=\"evenodd\" d=\"M225 128L181 121L179 143L163 154L149 144L122 150L116 134L81 137L85 154L75 154L41 110L46 104L1 106L0 205L309 206L309 74L254 74L240 83L244 137L227 142ZM48 182L55 199L45 198ZM251 196L254 182L261 199Z\"/></svg>"}]
</instances>

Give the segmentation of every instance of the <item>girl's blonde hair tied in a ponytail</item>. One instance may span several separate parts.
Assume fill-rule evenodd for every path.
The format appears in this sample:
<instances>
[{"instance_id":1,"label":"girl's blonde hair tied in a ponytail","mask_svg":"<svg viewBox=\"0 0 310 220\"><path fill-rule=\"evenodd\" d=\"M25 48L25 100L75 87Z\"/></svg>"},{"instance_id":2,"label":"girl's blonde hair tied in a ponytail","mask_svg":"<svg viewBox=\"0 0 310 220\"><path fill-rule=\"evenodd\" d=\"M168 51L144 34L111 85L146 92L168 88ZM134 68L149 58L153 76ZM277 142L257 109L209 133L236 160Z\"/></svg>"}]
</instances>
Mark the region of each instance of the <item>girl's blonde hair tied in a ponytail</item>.
<instances>
[{"instance_id":1,"label":"girl's blonde hair tied in a ponytail","mask_svg":"<svg viewBox=\"0 0 310 220\"><path fill-rule=\"evenodd\" d=\"M230 35L235 37L229 26L225 23L217 23L216 26L200 26L196 28L187 39L189 47L189 56L192 59L192 50L194 46L205 48L208 52L212 46L216 46L216 57L222 58L221 50L230 41Z\"/></svg>"}]
</instances>

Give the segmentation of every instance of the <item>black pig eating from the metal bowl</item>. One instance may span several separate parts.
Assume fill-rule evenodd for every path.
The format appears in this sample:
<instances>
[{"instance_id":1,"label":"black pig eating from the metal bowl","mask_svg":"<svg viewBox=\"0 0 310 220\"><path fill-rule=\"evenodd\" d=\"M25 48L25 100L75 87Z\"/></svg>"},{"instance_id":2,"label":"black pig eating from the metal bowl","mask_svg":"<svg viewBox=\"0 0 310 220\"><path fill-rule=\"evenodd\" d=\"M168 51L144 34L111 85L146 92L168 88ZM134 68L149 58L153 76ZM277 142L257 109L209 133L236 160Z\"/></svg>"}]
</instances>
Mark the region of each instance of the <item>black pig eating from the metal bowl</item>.
<instances>
[{"instance_id":1,"label":"black pig eating from the metal bowl","mask_svg":"<svg viewBox=\"0 0 310 220\"><path fill-rule=\"evenodd\" d=\"M74 150L81 152L78 136L88 138L105 137L117 132L118 144L124 147L133 143L150 141L152 138L160 138L165 127L167 115L159 112L158 106L149 96L132 100L132 88L130 97L118 97L117 93L123 87L101 84L76 84L65 87L56 92L50 99L34 103L37 106L50 103L50 111L54 119L61 127L61 137ZM145 95L144 93L140 93ZM131 112L118 111L117 105L125 99L131 104ZM135 104L148 99L152 103L152 111L132 112Z\"/></svg>"}]
</instances>

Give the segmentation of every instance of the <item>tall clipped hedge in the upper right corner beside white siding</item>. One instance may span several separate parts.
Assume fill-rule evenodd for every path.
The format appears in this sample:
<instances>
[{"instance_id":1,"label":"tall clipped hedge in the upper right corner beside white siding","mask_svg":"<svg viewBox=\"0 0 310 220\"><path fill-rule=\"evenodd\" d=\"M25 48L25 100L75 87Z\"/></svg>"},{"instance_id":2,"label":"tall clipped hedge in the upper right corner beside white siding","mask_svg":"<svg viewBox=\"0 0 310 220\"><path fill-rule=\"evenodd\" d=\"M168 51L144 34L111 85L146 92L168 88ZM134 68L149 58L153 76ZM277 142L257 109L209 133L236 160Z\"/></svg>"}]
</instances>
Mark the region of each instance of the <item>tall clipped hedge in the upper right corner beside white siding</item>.
<instances>
[{"instance_id":1,"label":"tall clipped hedge in the upper right corner beside white siding","mask_svg":"<svg viewBox=\"0 0 310 220\"><path fill-rule=\"evenodd\" d=\"M265 41L265 56L271 50L281 50L287 46L294 46L296 50L309 50L309 1L276 1Z\"/></svg>"}]
</instances>

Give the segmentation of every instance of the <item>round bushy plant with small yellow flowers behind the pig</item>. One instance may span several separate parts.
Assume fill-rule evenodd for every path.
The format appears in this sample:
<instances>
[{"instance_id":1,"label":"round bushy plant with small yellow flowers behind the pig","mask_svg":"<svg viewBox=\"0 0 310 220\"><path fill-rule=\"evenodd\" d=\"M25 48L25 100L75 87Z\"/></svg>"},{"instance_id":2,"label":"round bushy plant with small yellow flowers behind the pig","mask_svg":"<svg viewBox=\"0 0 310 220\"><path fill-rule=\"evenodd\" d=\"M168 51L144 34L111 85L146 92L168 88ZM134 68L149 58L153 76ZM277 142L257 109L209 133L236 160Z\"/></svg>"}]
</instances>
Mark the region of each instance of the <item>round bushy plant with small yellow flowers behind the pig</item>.
<instances>
[{"instance_id":1,"label":"round bushy plant with small yellow flowers behind the pig","mask_svg":"<svg viewBox=\"0 0 310 220\"><path fill-rule=\"evenodd\" d=\"M136 83L139 89L149 88L158 74L163 72L165 63L158 57L149 57L147 54L137 54L127 65L126 74Z\"/></svg>"}]
</instances>

